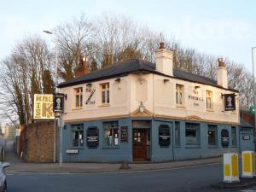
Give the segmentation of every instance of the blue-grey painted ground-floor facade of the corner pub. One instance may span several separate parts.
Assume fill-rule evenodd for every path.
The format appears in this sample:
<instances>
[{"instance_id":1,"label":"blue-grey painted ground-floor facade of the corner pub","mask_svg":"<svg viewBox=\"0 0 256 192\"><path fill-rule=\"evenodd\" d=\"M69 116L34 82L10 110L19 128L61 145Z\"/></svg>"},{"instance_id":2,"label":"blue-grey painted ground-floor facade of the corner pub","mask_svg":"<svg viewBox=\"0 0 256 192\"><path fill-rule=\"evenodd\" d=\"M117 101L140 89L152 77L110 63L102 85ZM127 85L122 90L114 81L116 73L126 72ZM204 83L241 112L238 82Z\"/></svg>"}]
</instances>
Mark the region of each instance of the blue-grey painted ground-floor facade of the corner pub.
<instances>
[{"instance_id":1,"label":"blue-grey painted ground-floor facade of the corner pub","mask_svg":"<svg viewBox=\"0 0 256 192\"><path fill-rule=\"evenodd\" d=\"M111 124L112 122L115 122L115 124ZM79 128L77 125L79 125ZM105 127L110 125L115 126L116 130L113 132L106 131ZM211 131L214 132L214 134L210 132L214 135L211 141L208 138L209 126L212 127ZM125 134L127 141L121 138L121 132L124 127L127 129L127 133ZM165 127L164 129L169 131L169 133L166 136L160 136L162 134L160 133L160 127ZM98 144L92 148L88 147L87 143L90 137L87 135L88 130L91 128L98 131L98 137L96 138ZM79 131L74 132L74 129L79 129ZM225 147L222 144L223 130L229 134L229 144ZM111 132L111 136L109 136L109 132ZM62 140L63 161L121 162L125 160L127 162L134 162L135 155L137 155L135 154L135 150L138 152L141 150L139 144L135 147L135 143L141 142L141 134L147 134L145 160L151 162L218 156L225 152L239 152L240 146L242 146L243 150L254 149L251 148L253 137L247 140L241 140L240 128L237 125L208 124L205 122L178 119L100 119L64 125ZM169 136L170 140L168 138ZM170 141L170 143L160 146L160 137L164 140L166 139L166 141ZM76 140L74 141L75 138ZM246 144L242 142L246 142ZM112 145L109 146L109 143L112 143Z\"/></svg>"}]
</instances>

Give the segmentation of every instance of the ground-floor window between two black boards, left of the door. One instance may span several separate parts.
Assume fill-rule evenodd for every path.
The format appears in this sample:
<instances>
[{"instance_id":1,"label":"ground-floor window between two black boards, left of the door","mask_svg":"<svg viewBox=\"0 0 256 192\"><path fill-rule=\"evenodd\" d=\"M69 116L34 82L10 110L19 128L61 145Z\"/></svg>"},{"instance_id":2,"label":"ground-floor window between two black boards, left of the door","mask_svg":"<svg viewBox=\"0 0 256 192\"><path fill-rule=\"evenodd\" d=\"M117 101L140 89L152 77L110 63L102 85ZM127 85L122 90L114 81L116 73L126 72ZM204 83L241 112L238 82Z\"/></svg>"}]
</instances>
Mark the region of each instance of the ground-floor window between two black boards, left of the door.
<instances>
[{"instance_id":1,"label":"ground-floor window between two black boards, left of the door","mask_svg":"<svg viewBox=\"0 0 256 192\"><path fill-rule=\"evenodd\" d=\"M119 123L118 121L103 123L105 133L105 146L119 145Z\"/></svg>"}]
</instances>

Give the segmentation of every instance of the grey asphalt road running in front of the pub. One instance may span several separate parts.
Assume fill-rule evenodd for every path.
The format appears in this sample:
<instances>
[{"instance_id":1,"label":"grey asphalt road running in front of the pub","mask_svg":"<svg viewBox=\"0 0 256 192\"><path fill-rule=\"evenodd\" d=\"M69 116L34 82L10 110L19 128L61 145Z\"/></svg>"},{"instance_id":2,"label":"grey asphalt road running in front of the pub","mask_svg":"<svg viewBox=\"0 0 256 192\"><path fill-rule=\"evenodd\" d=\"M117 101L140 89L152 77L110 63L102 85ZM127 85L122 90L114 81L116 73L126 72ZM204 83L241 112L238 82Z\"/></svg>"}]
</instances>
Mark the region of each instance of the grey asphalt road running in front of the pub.
<instances>
[{"instance_id":1,"label":"grey asphalt road running in front of the pub","mask_svg":"<svg viewBox=\"0 0 256 192\"><path fill-rule=\"evenodd\" d=\"M151 172L8 175L9 192L212 192L222 179L221 165ZM227 191L227 190L224 190Z\"/></svg>"}]
</instances>

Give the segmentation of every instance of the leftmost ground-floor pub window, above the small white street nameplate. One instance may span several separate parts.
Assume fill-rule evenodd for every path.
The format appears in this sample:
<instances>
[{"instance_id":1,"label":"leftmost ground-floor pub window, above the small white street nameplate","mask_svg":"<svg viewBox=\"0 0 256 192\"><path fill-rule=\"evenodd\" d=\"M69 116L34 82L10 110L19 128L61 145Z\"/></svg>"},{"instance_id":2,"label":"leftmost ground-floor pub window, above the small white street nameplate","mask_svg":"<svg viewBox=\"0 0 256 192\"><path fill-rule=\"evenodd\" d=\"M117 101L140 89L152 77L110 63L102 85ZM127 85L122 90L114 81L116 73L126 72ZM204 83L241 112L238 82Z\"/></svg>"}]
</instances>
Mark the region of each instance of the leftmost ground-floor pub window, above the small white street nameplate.
<instances>
[{"instance_id":1,"label":"leftmost ground-floor pub window, above the small white street nameplate","mask_svg":"<svg viewBox=\"0 0 256 192\"><path fill-rule=\"evenodd\" d=\"M84 125L72 125L72 143L73 147L84 146Z\"/></svg>"}]
</instances>

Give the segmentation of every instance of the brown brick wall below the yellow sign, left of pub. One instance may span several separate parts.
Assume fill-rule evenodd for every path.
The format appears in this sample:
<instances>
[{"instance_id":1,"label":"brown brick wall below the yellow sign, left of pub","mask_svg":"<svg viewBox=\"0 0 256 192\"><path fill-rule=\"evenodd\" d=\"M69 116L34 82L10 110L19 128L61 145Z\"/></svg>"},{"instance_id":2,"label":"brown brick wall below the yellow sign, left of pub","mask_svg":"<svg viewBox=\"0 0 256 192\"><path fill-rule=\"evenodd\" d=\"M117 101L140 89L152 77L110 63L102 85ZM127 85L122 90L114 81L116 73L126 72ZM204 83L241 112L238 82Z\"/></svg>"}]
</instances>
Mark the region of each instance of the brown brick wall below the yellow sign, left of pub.
<instances>
[{"instance_id":1,"label":"brown brick wall below the yellow sign, left of pub","mask_svg":"<svg viewBox=\"0 0 256 192\"><path fill-rule=\"evenodd\" d=\"M21 130L20 146L22 146L24 160L32 163L53 162L54 126L54 121L41 121L25 126L23 129L26 131ZM26 135L25 138L24 135Z\"/></svg>"}]
</instances>

